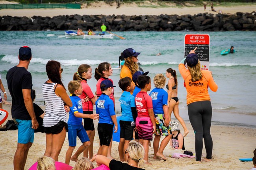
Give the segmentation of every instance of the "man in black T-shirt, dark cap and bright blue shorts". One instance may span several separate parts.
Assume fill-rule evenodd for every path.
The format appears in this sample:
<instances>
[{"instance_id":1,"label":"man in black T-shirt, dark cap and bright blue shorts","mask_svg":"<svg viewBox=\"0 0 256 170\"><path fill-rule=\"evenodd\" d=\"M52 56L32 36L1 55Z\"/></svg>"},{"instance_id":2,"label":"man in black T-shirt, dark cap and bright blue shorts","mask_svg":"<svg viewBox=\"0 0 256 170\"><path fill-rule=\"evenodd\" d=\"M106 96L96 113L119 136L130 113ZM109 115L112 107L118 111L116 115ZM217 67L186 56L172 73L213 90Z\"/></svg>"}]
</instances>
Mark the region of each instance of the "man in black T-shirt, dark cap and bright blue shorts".
<instances>
[{"instance_id":1,"label":"man in black T-shirt, dark cap and bright blue shorts","mask_svg":"<svg viewBox=\"0 0 256 170\"><path fill-rule=\"evenodd\" d=\"M13 159L14 170L24 170L28 150L34 141L34 130L38 122L33 108L32 76L28 65L32 59L31 48L19 49L19 64L6 74L8 89L13 99L11 116L18 127L18 144Z\"/></svg>"}]
</instances>

